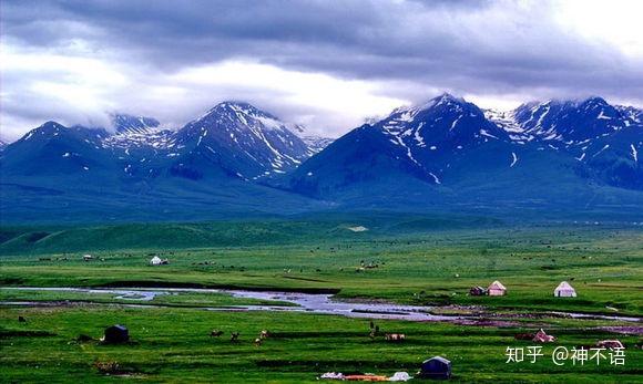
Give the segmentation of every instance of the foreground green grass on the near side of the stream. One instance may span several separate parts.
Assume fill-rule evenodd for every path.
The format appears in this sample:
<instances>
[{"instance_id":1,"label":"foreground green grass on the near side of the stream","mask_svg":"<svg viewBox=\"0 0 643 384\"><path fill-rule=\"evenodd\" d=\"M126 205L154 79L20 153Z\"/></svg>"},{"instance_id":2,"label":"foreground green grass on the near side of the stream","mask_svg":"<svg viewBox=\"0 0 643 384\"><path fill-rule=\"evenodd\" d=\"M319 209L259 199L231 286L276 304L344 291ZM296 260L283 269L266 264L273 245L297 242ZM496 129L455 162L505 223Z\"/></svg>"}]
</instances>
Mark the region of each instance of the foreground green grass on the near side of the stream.
<instances>
[{"instance_id":1,"label":"foreground green grass on the near side of the stream","mask_svg":"<svg viewBox=\"0 0 643 384\"><path fill-rule=\"evenodd\" d=\"M18 315L27 319L19 323ZM453 381L467 383L633 383L643 375L643 352L637 338L625 336L626 362L564 366L552 363L553 345L535 364L506 364L507 346L528 346L513 334L533 330L470 328L443 323L378 321L385 332L402 332L405 343L368 338L368 321L300 313L220 313L196 309L1 309L0 372L2 382L112 382L95 362L114 361L131 377L143 382L316 382L327 371L415 373L422 360L442 355L453 363ZM104 326L122 323L133 342L101 345L76 342L80 334L99 338ZM571 326L572 324L576 326ZM602 331L578 328L578 322L544 323L559 336L555 345L593 345L612 338ZM584 325L591 322L584 323ZM210 338L212 329L226 332ZM273 335L262 346L253 340L261 330ZM231 343L229 332L241 332Z\"/></svg>"}]
</instances>

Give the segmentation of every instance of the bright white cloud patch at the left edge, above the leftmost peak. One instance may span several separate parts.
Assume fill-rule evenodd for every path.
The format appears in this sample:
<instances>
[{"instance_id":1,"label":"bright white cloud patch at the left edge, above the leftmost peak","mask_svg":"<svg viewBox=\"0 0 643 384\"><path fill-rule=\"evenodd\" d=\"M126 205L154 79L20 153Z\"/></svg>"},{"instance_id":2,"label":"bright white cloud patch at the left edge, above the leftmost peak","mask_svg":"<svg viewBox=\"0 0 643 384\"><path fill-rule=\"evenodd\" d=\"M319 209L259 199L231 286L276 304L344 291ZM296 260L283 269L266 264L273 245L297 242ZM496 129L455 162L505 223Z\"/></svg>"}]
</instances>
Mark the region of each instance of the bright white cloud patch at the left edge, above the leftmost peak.
<instances>
[{"instance_id":1,"label":"bright white cloud patch at the left edge, above the leftmost peak","mask_svg":"<svg viewBox=\"0 0 643 384\"><path fill-rule=\"evenodd\" d=\"M1 128L8 138L17 138L47 120L103 124L106 112L115 105L113 96L131 84L123 69L98 58L10 44L2 46L0 73L4 84Z\"/></svg>"}]
</instances>

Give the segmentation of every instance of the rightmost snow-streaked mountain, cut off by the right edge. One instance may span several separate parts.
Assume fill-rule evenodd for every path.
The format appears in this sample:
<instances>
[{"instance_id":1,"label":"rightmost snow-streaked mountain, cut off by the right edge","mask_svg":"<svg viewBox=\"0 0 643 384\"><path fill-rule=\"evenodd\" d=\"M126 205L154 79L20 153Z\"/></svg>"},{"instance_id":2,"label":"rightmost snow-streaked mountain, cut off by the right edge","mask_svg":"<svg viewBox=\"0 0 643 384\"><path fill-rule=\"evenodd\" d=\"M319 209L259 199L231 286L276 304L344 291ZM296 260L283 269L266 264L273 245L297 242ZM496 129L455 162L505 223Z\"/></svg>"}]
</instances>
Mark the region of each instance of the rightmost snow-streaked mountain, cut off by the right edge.
<instances>
[{"instance_id":1,"label":"rightmost snow-streaked mountain, cut off by the right edge","mask_svg":"<svg viewBox=\"0 0 643 384\"><path fill-rule=\"evenodd\" d=\"M610 105L601 97L531 102L514 111L487 113L516 142L533 141L548 151L565 152L602 181L635 189L643 189L641 116L639 108Z\"/></svg>"}]
</instances>

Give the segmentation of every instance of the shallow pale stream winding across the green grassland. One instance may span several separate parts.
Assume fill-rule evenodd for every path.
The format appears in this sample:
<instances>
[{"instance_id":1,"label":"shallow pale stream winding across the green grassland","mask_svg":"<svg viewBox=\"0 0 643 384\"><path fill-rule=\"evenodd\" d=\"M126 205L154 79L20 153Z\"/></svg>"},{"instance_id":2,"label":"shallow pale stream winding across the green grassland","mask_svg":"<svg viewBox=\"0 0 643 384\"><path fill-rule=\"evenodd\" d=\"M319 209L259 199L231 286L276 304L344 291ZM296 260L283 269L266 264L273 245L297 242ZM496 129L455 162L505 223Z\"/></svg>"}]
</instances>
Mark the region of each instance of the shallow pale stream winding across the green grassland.
<instances>
[{"instance_id":1,"label":"shallow pale stream winding across the green grassland","mask_svg":"<svg viewBox=\"0 0 643 384\"><path fill-rule=\"evenodd\" d=\"M159 295L178 294L178 293L215 293L229 294L234 298L258 299L263 301L274 301L275 305L232 305L232 307L198 307L197 309L208 311L289 311L289 312L309 312L319 314L335 314L348 318L365 319L392 319L408 321L476 321L488 319L488 313L466 314L466 315L440 315L432 314L430 311L435 307L400 305L381 302L351 302L334 299L333 294L320 293L299 293L299 292L264 292L247 290L224 290L224 289L197 289L197 288L119 288L119 289L89 289L89 288L44 288L44 287L0 287L0 290L20 290L20 291L58 291L58 292L78 292L88 294L113 294L113 299L132 301L129 303L103 303L116 304L136 308L165 308L169 305L151 303ZM60 301L59 301L60 302ZM91 300L89 302L92 302ZM141 304L135 304L140 302ZM143 305L142 303L145 302ZM295 304L293 307L280 305L279 302ZM92 302L94 303L94 302ZM100 302L95 302L101 304ZM4 301L1 305L25 305L38 307L48 305L48 302L39 301ZM49 303L51 304L51 302ZM596 319L612 320L623 322L640 322L640 318L585 314L572 312L548 312L550 315L569 316L574 319Z\"/></svg>"}]
</instances>

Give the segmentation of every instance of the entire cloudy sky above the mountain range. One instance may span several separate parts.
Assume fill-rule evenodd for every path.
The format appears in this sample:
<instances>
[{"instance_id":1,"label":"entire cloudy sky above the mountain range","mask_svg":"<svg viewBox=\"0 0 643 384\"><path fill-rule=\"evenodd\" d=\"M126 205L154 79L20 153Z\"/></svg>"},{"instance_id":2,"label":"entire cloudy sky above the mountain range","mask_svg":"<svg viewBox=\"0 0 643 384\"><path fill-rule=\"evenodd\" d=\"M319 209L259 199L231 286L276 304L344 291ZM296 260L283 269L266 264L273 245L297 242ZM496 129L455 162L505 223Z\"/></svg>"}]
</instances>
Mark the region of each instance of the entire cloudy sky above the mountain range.
<instances>
[{"instance_id":1,"label":"entire cloudy sky above the mountain range","mask_svg":"<svg viewBox=\"0 0 643 384\"><path fill-rule=\"evenodd\" d=\"M226 100L337 137L449 92L643 106L642 1L0 1L0 137Z\"/></svg>"}]
</instances>

